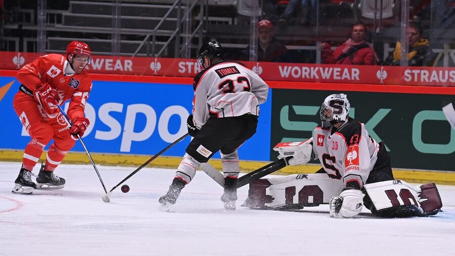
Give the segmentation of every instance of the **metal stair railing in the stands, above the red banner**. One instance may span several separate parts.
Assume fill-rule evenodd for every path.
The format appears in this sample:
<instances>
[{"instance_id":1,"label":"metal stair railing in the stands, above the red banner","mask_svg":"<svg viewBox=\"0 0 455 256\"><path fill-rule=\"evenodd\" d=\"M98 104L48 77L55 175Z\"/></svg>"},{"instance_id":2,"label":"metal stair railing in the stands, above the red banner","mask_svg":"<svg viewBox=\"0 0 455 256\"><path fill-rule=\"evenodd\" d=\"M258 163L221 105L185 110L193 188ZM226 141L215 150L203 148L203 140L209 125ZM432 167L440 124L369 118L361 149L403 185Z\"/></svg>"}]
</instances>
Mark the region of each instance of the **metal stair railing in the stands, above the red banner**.
<instances>
[{"instance_id":1,"label":"metal stair railing in the stands, above the red banner","mask_svg":"<svg viewBox=\"0 0 455 256\"><path fill-rule=\"evenodd\" d=\"M139 51L141 50L142 47L144 47L144 45L146 45L147 47L147 56L154 56L154 57L160 57L160 55L166 50L166 48L169 46L170 42L172 41L172 39L175 38L175 58L179 57L180 53L183 52L184 50L187 50L186 51L186 56L185 57L189 57L188 56L188 49L189 47L191 48L191 39L196 35L197 32L199 32L199 37L200 37L200 40L199 40L199 44L201 44L201 41L202 41L202 36L203 36L203 33L202 33L202 30L203 30L203 27L204 27L204 17L207 17L207 0L196 0L193 2L193 4L187 8L187 11L185 13L185 15L183 15L183 17L181 17L181 0L175 0L174 4L169 8L169 10L167 11L167 13L164 15L164 17L160 20L160 22L155 26L155 28L153 29L152 33L148 33L147 36L144 38L144 40L142 41L141 45L138 47L138 49L136 49L136 51L133 53L132 57L135 57ZM205 3L204 3L205 2ZM180 35L181 35L181 32L180 32L180 27L181 27L181 23L183 23L184 21L186 22L191 22L192 20L192 17L190 16L190 14L192 13L193 9L195 8L195 6L200 3L200 13L199 13L199 24L198 26L196 26L196 28L194 29L194 31L189 35L189 28L190 28L190 25L191 24L187 24L186 28L188 31L186 31L185 35L186 35L186 40L185 40L185 44L183 44L183 47L179 47L179 44L180 44ZM160 26L163 24L163 22L169 17L170 13L175 9L175 7L177 7L177 21L176 21L176 28L175 30L173 31L173 33L170 35L170 37L168 38L168 40L165 42L164 46L161 48L161 50L155 54L155 48L156 48L156 34L157 34L157 31L158 29L160 28ZM204 13L204 15L203 15ZM151 49L150 49L151 47Z\"/></svg>"}]
</instances>

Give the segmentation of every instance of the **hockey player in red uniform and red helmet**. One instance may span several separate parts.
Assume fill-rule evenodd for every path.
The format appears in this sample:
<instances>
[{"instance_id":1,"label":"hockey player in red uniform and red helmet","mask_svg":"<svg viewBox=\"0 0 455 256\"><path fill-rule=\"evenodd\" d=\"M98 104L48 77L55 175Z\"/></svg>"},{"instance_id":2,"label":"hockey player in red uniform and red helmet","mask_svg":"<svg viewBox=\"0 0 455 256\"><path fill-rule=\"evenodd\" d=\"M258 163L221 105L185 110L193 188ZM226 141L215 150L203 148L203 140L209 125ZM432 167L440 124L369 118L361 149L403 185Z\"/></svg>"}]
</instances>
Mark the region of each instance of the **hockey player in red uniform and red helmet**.
<instances>
[{"instance_id":1,"label":"hockey player in red uniform and red helmet","mask_svg":"<svg viewBox=\"0 0 455 256\"><path fill-rule=\"evenodd\" d=\"M83 136L89 121L84 117L85 104L92 80L85 71L92 51L87 44L72 41L66 56L47 54L22 67L17 73L21 83L13 100L13 107L25 131L31 137L22 158L22 167L15 181L13 193L31 194L39 188L63 188L65 179L54 174L77 138ZM58 105L70 100L70 126ZM31 179L33 167L51 139L45 165L41 164L36 183Z\"/></svg>"}]
</instances>

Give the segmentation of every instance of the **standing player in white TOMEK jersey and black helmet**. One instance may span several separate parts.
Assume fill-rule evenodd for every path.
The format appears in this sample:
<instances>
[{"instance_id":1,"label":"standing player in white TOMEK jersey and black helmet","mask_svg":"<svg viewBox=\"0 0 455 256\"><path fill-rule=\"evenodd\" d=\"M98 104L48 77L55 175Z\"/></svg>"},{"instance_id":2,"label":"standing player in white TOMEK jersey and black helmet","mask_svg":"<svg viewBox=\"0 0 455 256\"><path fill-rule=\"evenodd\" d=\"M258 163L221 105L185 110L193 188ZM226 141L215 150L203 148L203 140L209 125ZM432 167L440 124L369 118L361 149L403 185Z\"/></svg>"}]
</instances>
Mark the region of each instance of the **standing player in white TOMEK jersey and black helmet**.
<instances>
[{"instance_id":1,"label":"standing player in white TOMEK jersey and black helmet","mask_svg":"<svg viewBox=\"0 0 455 256\"><path fill-rule=\"evenodd\" d=\"M194 139L166 195L159 202L164 210L174 204L181 189L196 174L200 163L207 162L218 150L224 173L221 201L235 209L236 182L240 172L237 149L256 133L259 104L267 99L267 84L238 62L224 61L217 41L204 44L198 63L203 69L193 82L193 114L188 117L188 132Z\"/></svg>"}]
</instances>

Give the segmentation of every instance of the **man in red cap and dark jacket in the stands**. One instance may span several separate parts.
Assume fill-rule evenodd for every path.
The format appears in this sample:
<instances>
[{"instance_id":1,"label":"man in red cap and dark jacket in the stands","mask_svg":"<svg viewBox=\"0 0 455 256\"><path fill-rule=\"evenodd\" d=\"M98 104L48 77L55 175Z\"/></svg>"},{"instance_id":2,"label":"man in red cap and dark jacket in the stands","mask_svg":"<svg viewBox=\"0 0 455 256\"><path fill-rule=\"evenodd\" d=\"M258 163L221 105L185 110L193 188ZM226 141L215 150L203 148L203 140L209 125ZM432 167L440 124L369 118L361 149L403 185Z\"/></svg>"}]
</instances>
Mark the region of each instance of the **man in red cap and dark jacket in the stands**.
<instances>
[{"instance_id":1,"label":"man in red cap and dark jacket in the stands","mask_svg":"<svg viewBox=\"0 0 455 256\"><path fill-rule=\"evenodd\" d=\"M274 37L274 34L274 25L269 20L259 21L257 61L290 62L288 49Z\"/></svg>"}]
</instances>

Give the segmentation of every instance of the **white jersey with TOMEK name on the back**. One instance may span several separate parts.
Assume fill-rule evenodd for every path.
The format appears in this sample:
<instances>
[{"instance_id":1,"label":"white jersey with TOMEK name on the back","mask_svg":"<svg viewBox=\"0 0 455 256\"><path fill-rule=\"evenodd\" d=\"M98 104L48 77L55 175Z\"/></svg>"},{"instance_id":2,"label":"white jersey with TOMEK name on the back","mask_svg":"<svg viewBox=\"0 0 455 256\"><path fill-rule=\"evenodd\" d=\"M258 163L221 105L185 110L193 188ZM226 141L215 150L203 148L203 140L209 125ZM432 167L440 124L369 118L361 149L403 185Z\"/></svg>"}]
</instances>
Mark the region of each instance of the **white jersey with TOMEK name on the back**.
<instances>
[{"instance_id":1,"label":"white jersey with TOMEK name on the back","mask_svg":"<svg viewBox=\"0 0 455 256\"><path fill-rule=\"evenodd\" d=\"M256 73L238 62L219 62L198 73L193 81L193 122L201 129L210 116L259 116L268 86Z\"/></svg>"}]
</instances>

